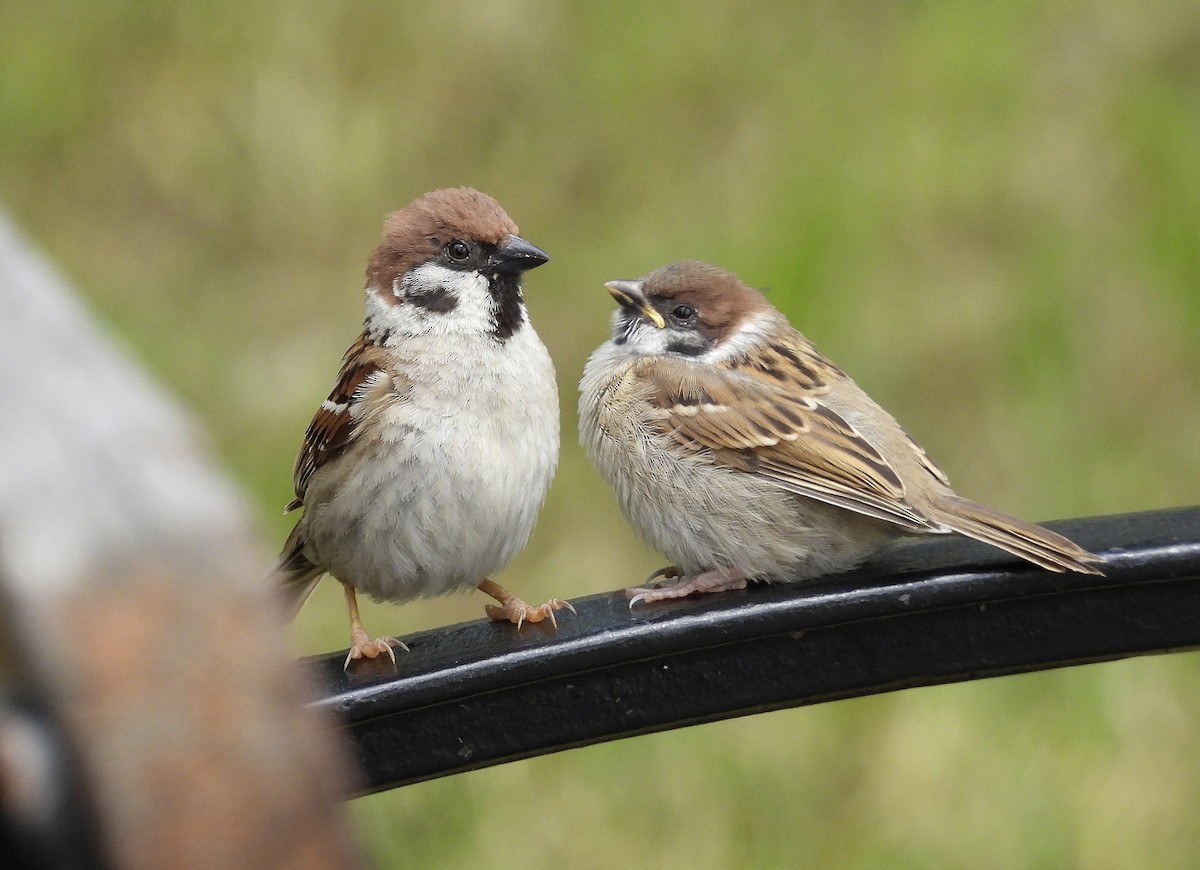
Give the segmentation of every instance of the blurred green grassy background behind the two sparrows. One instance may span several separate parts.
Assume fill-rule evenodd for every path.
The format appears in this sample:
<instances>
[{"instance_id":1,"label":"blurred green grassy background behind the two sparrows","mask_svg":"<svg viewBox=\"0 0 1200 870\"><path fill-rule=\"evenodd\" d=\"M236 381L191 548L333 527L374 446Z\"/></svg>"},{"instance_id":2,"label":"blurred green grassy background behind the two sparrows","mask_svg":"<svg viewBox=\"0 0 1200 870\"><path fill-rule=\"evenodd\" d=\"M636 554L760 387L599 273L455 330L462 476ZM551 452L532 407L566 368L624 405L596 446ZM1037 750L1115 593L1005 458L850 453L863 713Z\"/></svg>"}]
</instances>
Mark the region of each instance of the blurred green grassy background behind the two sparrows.
<instances>
[{"instance_id":1,"label":"blurred green grassy background behind the two sparrows","mask_svg":"<svg viewBox=\"0 0 1200 870\"><path fill-rule=\"evenodd\" d=\"M292 518L383 215L469 184L564 450L529 600L640 581L575 443L606 280L772 288L960 492L1028 518L1200 494L1200 6L0 5L0 203ZM70 365L70 349L59 349ZM265 566L265 565L264 565ZM400 636L481 595L368 606ZM299 650L346 644L326 582ZM1200 866L1200 658L788 710L353 804L379 866Z\"/></svg>"}]
</instances>

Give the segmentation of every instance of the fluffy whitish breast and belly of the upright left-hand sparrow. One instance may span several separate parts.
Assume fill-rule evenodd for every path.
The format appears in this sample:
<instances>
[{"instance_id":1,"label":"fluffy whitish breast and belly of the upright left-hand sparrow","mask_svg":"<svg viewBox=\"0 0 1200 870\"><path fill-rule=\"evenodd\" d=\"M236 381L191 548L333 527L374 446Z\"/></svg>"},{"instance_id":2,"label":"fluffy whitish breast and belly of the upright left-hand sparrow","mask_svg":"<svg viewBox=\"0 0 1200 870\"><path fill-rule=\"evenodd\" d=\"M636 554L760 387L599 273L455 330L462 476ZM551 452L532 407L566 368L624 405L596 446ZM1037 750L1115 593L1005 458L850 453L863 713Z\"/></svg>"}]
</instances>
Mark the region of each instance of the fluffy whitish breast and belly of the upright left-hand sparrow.
<instances>
[{"instance_id":1,"label":"fluffy whitish breast and belly of the upright left-hand sparrow","mask_svg":"<svg viewBox=\"0 0 1200 870\"><path fill-rule=\"evenodd\" d=\"M528 323L503 343L476 330L397 352L407 400L313 479L305 512L310 558L392 601L475 586L521 551L559 430L553 366Z\"/></svg>"}]
</instances>

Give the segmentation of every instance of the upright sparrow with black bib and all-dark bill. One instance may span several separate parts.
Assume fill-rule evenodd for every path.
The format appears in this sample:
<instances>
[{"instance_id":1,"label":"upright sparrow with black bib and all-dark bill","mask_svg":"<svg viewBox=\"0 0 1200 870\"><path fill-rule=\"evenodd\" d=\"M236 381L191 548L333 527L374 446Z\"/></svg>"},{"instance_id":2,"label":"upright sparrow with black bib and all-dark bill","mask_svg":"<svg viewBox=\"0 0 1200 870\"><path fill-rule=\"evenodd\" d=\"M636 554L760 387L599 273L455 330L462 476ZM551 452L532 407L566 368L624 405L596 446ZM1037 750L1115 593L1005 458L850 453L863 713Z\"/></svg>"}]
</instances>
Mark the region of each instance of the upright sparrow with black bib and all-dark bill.
<instances>
[{"instance_id":1,"label":"upright sparrow with black bib and all-dark bill","mask_svg":"<svg viewBox=\"0 0 1200 870\"><path fill-rule=\"evenodd\" d=\"M286 511L304 515L275 569L293 617L323 575L342 584L347 667L408 649L364 630L360 592L403 602L475 587L499 602L488 617L518 629L574 611L488 578L524 547L558 462L554 368L521 290L548 259L469 187L386 218L362 334L296 457Z\"/></svg>"}]
</instances>

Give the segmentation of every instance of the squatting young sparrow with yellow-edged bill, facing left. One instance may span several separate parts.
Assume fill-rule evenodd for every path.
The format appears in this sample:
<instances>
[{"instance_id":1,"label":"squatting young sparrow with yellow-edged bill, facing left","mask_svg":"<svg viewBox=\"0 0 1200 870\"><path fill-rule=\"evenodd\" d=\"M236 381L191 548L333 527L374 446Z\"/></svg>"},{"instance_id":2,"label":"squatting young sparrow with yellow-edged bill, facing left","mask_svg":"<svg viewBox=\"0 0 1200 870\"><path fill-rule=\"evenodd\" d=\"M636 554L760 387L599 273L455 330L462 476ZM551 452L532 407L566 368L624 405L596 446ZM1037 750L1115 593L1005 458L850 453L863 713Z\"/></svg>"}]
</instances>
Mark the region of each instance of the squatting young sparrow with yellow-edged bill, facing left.
<instances>
[{"instance_id":1,"label":"squatting young sparrow with yellow-edged bill, facing left","mask_svg":"<svg viewBox=\"0 0 1200 870\"><path fill-rule=\"evenodd\" d=\"M956 533L1100 574L1060 534L965 499L895 419L757 290L698 260L606 284L612 338L580 384L580 439L630 524L674 564L630 606L851 569ZM649 581L648 581L649 582Z\"/></svg>"}]
</instances>

